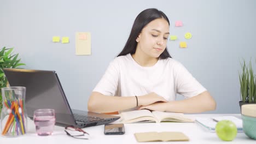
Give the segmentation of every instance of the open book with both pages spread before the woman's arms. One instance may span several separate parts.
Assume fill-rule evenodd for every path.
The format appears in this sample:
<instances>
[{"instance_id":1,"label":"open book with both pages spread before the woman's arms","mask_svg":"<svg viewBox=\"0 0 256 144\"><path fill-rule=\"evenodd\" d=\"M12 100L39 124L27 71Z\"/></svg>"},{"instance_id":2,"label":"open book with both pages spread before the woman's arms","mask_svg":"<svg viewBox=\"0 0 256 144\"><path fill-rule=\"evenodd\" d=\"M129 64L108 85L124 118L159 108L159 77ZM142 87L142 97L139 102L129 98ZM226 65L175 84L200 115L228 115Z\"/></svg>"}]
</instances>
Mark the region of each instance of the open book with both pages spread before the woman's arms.
<instances>
[{"instance_id":1,"label":"open book with both pages spread before the woman's arms","mask_svg":"<svg viewBox=\"0 0 256 144\"><path fill-rule=\"evenodd\" d=\"M149 110L136 110L122 112L121 123L138 123L138 122L194 122L193 119L186 118L183 113L161 112Z\"/></svg>"}]
</instances>

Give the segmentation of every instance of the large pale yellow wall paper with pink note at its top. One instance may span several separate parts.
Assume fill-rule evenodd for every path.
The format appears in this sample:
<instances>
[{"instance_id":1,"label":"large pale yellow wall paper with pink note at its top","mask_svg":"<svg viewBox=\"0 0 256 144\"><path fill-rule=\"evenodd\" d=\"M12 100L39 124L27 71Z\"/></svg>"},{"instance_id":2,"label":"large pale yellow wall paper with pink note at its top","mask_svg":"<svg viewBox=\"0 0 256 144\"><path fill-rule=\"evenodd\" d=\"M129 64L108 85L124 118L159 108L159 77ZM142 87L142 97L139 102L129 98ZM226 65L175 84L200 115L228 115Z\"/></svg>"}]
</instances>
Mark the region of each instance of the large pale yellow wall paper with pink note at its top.
<instances>
[{"instance_id":1,"label":"large pale yellow wall paper with pink note at its top","mask_svg":"<svg viewBox=\"0 0 256 144\"><path fill-rule=\"evenodd\" d=\"M75 33L75 55L91 55L91 33Z\"/></svg>"}]
</instances>

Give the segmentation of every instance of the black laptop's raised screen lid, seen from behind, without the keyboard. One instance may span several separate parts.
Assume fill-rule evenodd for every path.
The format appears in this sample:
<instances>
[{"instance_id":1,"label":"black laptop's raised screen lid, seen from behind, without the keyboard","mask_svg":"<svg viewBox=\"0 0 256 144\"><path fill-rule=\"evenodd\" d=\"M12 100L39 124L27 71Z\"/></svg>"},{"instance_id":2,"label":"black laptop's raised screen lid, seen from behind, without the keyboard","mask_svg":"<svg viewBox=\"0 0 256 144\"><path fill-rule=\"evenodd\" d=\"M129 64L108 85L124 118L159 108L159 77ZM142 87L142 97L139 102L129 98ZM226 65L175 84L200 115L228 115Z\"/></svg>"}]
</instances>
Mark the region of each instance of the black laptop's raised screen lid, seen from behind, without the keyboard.
<instances>
[{"instance_id":1,"label":"black laptop's raised screen lid, seen from behind, without the keyboard","mask_svg":"<svg viewBox=\"0 0 256 144\"><path fill-rule=\"evenodd\" d=\"M74 117L55 71L4 69L10 86L26 87L26 110L54 109L56 122L74 124Z\"/></svg>"}]
</instances>

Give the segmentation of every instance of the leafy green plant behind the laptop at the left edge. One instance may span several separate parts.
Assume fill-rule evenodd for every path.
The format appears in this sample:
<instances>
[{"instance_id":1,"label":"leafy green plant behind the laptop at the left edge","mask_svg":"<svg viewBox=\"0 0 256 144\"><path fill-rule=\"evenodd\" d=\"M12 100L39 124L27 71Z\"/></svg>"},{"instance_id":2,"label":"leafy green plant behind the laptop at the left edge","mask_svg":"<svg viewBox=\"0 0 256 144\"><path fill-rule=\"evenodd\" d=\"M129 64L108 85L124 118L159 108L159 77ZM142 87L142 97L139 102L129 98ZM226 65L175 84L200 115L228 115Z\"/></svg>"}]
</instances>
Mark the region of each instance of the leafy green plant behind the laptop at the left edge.
<instances>
[{"instance_id":1,"label":"leafy green plant behind the laptop at the left edge","mask_svg":"<svg viewBox=\"0 0 256 144\"><path fill-rule=\"evenodd\" d=\"M2 110L2 87L7 87L8 81L4 75L3 68L18 68L20 65L25 65L20 63L18 59L19 54L13 54L13 48L6 49L3 47L0 50L0 112Z\"/></svg>"}]
</instances>

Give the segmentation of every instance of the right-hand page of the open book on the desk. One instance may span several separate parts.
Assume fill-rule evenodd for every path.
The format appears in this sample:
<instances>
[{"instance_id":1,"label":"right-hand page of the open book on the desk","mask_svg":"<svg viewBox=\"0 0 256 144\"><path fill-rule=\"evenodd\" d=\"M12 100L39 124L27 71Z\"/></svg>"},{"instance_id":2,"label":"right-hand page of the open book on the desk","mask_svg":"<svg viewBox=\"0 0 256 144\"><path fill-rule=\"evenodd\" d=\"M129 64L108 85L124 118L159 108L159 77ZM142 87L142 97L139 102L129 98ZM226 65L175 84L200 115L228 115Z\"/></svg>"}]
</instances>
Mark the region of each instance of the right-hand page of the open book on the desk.
<instances>
[{"instance_id":1,"label":"right-hand page of the open book on the desk","mask_svg":"<svg viewBox=\"0 0 256 144\"><path fill-rule=\"evenodd\" d=\"M155 118L158 121L172 121L172 122L194 122L194 119L190 119L184 116L183 113L176 112L161 112L161 111L153 111L152 112Z\"/></svg>"}]
</instances>

